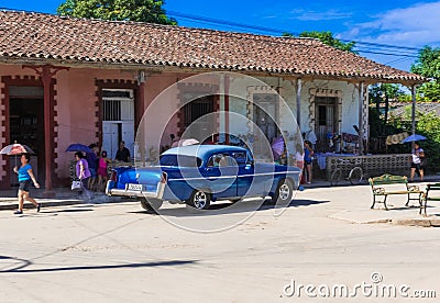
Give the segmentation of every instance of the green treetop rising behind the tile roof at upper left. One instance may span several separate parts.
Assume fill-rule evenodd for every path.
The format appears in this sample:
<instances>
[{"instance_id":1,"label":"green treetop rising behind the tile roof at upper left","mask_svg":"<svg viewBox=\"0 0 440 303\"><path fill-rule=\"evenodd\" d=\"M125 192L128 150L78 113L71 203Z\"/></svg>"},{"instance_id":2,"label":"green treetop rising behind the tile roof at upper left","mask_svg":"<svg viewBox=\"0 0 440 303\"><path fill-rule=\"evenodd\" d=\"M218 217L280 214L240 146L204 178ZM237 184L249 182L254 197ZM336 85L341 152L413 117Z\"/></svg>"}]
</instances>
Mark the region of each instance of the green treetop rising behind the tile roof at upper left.
<instances>
[{"instance_id":1,"label":"green treetop rising behind the tile roof at upper left","mask_svg":"<svg viewBox=\"0 0 440 303\"><path fill-rule=\"evenodd\" d=\"M57 13L87 19L176 25L176 20L165 14L164 4L165 1L161 0L66 0L58 7Z\"/></svg>"}]
</instances>

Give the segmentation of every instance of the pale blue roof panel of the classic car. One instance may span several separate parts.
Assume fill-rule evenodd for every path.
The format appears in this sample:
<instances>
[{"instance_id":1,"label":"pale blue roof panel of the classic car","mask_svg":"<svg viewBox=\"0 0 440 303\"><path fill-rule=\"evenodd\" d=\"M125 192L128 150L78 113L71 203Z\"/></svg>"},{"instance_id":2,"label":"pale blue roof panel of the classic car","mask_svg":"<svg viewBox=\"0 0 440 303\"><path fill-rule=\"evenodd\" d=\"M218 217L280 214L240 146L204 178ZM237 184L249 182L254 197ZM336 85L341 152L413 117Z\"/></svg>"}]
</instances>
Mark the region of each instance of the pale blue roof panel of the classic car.
<instances>
[{"instance_id":1,"label":"pale blue roof panel of the classic car","mask_svg":"<svg viewBox=\"0 0 440 303\"><path fill-rule=\"evenodd\" d=\"M239 153L246 152L248 149L239 146L230 146L230 145L188 145L188 146L179 146L170 148L162 155L184 155L184 156L196 156L201 159L206 158L208 155L213 153Z\"/></svg>"}]
</instances>

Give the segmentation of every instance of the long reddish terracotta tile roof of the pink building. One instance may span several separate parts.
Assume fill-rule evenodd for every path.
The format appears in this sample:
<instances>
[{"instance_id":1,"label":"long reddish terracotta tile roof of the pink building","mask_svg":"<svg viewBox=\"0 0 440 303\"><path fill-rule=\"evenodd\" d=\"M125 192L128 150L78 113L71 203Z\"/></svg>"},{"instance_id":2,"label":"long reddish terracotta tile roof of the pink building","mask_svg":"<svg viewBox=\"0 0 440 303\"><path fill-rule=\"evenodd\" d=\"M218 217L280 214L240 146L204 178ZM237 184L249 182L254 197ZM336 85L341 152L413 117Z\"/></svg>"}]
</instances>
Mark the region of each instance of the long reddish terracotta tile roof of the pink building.
<instances>
[{"instance_id":1,"label":"long reddish terracotta tile roof of the pink building","mask_svg":"<svg viewBox=\"0 0 440 303\"><path fill-rule=\"evenodd\" d=\"M188 29L136 22L0 11L0 60L63 60L176 66L244 72L373 78L420 82L418 75L377 64L311 38Z\"/></svg>"}]
</instances>

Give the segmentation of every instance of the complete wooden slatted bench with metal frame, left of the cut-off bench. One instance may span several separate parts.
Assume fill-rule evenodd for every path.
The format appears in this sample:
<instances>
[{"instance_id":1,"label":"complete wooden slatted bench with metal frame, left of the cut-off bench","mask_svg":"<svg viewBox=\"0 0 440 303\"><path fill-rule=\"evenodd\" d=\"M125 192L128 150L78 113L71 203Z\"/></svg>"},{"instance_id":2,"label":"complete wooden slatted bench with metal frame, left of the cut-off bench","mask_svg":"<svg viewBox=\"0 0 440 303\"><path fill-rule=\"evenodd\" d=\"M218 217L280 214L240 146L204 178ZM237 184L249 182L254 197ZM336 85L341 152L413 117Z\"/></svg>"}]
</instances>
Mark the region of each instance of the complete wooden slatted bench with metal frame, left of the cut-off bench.
<instances>
[{"instance_id":1,"label":"complete wooden slatted bench with metal frame, left of the cut-off bench","mask_svg":"<svg viewBox=\"0 0 440 303\"><path fill-rule=\"evenodd\" d=\"M422 197L425 192L419 189L417 186L409 186L408 178L406 176L393 176L393 175L383 175L381 177L370 178L369 183L372 187L373 191L373 205L371 209L374 209L374 204L383 203L385 210L388 210L386 206L386 198L391 194L407 194L408 199L406 201L405 206L408 206L410 200L416 200L420 205L420 213L422 209ZM391 189L387 186L391 184L405 184L405 188L402 190ZM417 194L417 198L411 198L411 194ZM376 197L384 197L383 201L376 201Z\"/></svg>"}]
</instances>

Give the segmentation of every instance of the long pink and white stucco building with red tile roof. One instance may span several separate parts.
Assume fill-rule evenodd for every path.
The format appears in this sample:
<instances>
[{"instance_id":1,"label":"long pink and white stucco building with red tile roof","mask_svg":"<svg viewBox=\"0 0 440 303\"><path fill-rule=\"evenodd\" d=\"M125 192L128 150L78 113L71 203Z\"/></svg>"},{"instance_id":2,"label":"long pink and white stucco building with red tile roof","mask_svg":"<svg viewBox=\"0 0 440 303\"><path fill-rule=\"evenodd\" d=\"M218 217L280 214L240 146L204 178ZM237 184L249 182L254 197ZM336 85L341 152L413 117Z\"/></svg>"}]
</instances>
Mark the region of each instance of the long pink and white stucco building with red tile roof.
<instances>
[{"instance_id":1,"label":"long pink and white stucco building with red tile roof","mask_svg":"<svg viewBox=\"0 0 440 303\"><path fill-rule=\"evenodd\" d=\"M211 71L246 75L263 85L243 85L239 77L185 81ZM287 119L274 91L305 132L319 136L354 123L367 136L369 85L413 87L424 81L310 38L0 12L0 146L14 141L31 146L38 180L48 193L69 179L73 153L65 149L72 143L98 143L114 157L118 142L124 139L135 157L145 156L141 149L148 157L154 146L143 141L139 146L139 125L148 105L169 87L169 96L160 99L163 114L150 117L150 126L141 130L144 138L161 132L157 148L169 145L172 134L182 136L204 114L220 110L260 125L258 110L249 104L261 97L267 99L262 104L273 112L274 123L283 124ZM233 91L244 100L230 98ZM195 101L182 105L188 98ZM331 116L319 116L323 113ZM161 123L165 130L155 130ZM204 121L198 123L205 127ZM249 125L231 125L228 114L210 125L210 133L228 133L233 126L240 134L250 132ZM268 139L276 134L264 130ZM3 189L11 186L11 160L0 158Z\"/></svg>"}]
</instances>

